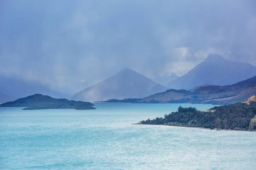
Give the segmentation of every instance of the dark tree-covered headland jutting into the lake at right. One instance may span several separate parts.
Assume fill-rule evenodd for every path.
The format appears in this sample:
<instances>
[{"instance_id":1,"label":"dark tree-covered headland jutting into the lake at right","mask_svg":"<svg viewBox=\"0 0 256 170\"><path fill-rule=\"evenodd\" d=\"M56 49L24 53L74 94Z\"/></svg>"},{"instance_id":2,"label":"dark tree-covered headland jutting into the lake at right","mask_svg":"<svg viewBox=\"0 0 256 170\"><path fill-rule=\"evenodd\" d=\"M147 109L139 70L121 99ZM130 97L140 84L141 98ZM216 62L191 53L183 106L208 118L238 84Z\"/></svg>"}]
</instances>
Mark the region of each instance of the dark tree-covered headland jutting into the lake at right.
<instances>
[{"instance_id":1,"label":"dark tree-covered headland jutting into the lake at right","mask_svg":"<svg viewBox=\"0 0 256 170\"><path fill-rule=\"evenodd\" d=\"M178 111L164 115L164 118L147 119L140 121L138 124L254 130L256 124L253 118L255 115L256 102L250 102L250 105L236 103L216 106L208 111L198 111L196 108L183 108L180 106Z\"/></svg>"}]
</instances>

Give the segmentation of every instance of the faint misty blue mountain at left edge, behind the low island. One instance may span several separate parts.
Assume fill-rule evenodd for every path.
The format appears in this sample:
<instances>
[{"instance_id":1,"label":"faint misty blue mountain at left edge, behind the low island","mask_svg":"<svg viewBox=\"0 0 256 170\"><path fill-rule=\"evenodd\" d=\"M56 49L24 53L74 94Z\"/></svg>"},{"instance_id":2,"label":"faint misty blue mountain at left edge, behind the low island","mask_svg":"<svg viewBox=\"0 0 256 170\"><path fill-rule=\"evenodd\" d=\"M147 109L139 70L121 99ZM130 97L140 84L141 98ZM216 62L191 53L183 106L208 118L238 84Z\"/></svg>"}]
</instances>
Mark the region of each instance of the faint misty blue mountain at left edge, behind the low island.
<instances>
[{"instance_id":1,"label":"faint misty blue mountain at left edge, behind the low island","mask_svg":"<svg viewBox=\"0 0 256 170\"><path fill-rule=\"evenodd\" d=\"M0 93L4 95L3 97L0 95L2 102L8 102L23 96L38 93L56 98L64 97L63 94L52 91L47 86L42 85L39 82L26 81L17 77L7 77L3 75L0 75Z\"/></svg>"}]
</instances>

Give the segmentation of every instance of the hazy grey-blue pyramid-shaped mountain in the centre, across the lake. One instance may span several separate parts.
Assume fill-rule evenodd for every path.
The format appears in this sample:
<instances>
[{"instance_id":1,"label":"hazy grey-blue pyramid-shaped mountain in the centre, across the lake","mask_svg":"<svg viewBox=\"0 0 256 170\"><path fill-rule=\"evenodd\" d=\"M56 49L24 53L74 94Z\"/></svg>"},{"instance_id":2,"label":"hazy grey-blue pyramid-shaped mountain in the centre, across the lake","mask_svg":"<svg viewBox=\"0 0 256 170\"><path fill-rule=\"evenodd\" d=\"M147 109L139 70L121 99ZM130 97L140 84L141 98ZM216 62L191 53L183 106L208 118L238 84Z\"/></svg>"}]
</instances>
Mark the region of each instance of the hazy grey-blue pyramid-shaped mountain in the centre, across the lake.
<instances>
[{"instance_id":1,"label":"hazy grey-blue pyramid-shaped mountain in the centre, across the lake","mask_svg":"<svg viewBox=\"0 0 256 170\"><path fill-rule=\"evenodd\" d=\"M102 101L108 99L142 98L166 91L166 87L133 71L124 69L118 74L76 93L71 99Z\"/></svg>"}]
</instances>

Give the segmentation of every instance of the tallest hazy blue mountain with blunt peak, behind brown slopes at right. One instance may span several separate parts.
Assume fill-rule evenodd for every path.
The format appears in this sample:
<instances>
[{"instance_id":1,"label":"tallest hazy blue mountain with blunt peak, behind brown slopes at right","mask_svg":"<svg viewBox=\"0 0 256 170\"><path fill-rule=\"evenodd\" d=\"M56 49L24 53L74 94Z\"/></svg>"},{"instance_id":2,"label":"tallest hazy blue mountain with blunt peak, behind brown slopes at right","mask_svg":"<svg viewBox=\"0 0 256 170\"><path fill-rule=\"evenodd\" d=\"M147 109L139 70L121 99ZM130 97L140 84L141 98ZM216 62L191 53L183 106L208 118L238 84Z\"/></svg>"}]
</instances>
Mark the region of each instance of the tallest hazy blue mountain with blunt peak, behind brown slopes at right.
<instances>
[{"instance_id":1,"label":"tallest hazy blue mountain with blunt peak, behind brown slopes at right","mask_svg":"<svg viewBox=\"0 0 256 170\"><path fill-rule=\"evenodd\" d=\"M169 82L166 87L191 89L198 85L231 85L255 76L256 67L248 63L231 62L217 54L209 54L207 59L187 74Z\"/></svg>"}]
</instances>

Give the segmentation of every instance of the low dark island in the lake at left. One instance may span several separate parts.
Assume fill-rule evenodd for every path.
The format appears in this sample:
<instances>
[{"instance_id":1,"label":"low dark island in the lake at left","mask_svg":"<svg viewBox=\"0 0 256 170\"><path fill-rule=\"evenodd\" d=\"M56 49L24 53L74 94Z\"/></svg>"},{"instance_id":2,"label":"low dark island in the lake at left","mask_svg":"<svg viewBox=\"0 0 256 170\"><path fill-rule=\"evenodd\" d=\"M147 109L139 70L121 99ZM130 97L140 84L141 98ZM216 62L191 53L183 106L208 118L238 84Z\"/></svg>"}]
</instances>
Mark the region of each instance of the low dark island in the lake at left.
<instances>
[{"instance_id":1,"label":"low dark island in the lake at left","mask_svg":"<svg viewBox=\"0 0 256 170\"><path fill-rule=\"evenodd\" d=\"M96 109L90 102L74 101L68 99L55 99L42 94L34 94L24 98L17 99L13 102L6 102L0 107L26 107L22 110L39 110L39 109L76 109L90 110Z\"/></svg>"}]
</instances>

